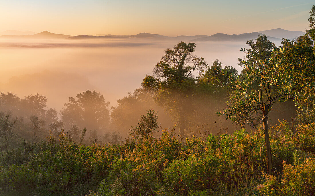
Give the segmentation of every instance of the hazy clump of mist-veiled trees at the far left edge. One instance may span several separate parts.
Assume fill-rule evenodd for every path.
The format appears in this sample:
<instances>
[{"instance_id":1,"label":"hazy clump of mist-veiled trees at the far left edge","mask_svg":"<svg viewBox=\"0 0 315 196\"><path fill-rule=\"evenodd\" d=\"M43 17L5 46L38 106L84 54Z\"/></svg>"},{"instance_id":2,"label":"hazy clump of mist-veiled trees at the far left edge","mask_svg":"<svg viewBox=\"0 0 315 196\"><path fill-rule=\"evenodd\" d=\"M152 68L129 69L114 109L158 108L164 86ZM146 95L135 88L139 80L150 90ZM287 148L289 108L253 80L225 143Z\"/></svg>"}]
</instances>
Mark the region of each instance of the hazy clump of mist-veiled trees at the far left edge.
<instances>
[{"instance_id":1,"label":"hazy clump of mist-veiled trees at the far left edge","mask_svg":"<svg viewBox=\"0 0 315 196\"><path fill-rule=\"evenodd\" d=\"M23 139L42 139L48 132L47 125L58 114L52 108L45 110L46 102L46 97L39 94L20 99L14 93L0 92L0 116L7 115L9 121L14 121L14 133Z\"/></svg>"}]
</instances>

